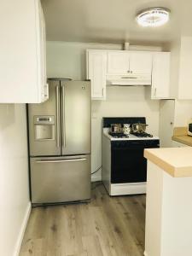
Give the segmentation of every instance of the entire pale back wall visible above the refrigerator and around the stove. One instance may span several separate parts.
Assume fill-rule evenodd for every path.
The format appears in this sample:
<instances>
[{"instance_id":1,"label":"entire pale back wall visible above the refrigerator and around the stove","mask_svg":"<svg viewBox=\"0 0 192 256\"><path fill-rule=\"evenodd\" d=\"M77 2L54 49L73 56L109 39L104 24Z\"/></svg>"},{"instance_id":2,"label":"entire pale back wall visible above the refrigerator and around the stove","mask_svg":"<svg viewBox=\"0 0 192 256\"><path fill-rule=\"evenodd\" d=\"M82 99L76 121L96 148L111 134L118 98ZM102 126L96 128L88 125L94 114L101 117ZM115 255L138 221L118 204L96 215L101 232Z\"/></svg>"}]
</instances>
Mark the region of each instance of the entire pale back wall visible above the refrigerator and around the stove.
<instances>
[{"instance_id":1,"label":"entire pale back wall visible above the refrigerator and around the stove","mask_svg":"<svg viewBox=\"0 0 192 256\"><path fill-rule=\"evenodd\" d=\"M85 49L121 49L120 44L84 44L47 42L48 77L85 79ZM102 117L146 116L148 131L159 133L159 101L149 99L150 89L113 87L107 89L107 101L92 101L92 163L94 172L102 165ZM93 180L101 177L97 172Z\"/></svg>"}]
</instances>

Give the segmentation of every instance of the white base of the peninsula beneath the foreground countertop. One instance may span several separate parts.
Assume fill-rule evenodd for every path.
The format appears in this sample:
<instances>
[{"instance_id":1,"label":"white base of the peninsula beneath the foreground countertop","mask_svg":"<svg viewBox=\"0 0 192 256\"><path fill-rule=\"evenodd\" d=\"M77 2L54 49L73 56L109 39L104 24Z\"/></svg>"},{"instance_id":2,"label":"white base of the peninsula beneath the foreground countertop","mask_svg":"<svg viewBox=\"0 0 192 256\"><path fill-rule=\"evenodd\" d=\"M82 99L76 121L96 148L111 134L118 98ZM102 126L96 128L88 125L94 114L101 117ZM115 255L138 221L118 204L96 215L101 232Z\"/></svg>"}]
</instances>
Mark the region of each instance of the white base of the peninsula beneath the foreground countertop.
<instances>
[{"instance_id":1,"label":"white base of the peninsula beneath the foreground countertop","mask_svg":"<svg viewBox=\"0 0 192 256\"><path fill-rule=\"evenodd\" d=\"M144 255L192 255L192 177L172 177L149 160L147 173Z\"/></svg>"}]
</instances>

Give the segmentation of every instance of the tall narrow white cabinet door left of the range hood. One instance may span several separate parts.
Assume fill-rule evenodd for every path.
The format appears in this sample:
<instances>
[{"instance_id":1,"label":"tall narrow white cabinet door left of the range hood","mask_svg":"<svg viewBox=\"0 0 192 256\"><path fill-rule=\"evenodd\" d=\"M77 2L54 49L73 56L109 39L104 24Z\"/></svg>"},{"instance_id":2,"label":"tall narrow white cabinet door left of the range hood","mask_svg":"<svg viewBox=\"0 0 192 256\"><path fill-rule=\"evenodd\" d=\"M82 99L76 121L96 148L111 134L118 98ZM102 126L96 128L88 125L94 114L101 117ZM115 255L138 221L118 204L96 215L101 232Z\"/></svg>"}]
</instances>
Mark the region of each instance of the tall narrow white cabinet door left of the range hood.
<instances>
[{"instance_id":1,"label":"tall narrow white cabinet door left of the range hood","mask_svg":"<svg viewBox=\"0 0 192 256\"><path fill-rule=\"evenodd\" d=\"M102 51L87 51L87 79L91 80L91 98L106 99L106 69L107 53Z\"/></svg>"}]
</instances>

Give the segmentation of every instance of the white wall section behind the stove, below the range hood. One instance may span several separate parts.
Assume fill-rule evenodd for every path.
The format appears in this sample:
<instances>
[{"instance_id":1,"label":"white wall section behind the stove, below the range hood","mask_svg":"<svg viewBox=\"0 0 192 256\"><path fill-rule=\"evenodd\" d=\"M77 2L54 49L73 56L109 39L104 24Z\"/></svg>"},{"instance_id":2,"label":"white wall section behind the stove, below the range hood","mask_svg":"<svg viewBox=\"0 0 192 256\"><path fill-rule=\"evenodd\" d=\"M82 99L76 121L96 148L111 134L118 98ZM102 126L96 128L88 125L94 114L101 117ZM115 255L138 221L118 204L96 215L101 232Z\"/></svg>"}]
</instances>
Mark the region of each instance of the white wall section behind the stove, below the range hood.
<instances>
[{"instance_id":1,"label":"white wall section behind the stove, below the range hood","mask_svg":"<svg viewBox=\"0 0 192 256\"><path fill-rule=\"evenodd\" d=\"M148 132L159 134L159 101L144 86L108 87L107 101L92 102L92 172L102 163L102 117L145 116Z\"/></svg>"}]
</instances>

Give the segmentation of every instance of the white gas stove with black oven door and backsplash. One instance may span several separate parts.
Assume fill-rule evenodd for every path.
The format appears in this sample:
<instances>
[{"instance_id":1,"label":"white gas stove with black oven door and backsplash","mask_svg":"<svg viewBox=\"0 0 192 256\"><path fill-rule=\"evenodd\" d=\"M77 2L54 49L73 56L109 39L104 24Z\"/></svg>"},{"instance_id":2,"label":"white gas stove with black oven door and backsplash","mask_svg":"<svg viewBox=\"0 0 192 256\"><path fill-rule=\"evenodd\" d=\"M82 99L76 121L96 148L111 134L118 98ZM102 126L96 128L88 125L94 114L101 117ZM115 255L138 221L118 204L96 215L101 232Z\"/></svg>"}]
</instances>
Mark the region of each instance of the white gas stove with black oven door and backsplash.
<instances>
[{"instance_id":1,"label":"white gas stove with black oven door and backsplash","mask_svg":"<svg viewBox=\"0 0 192 256\"><path fill-rule=\"evenodd\" d=\"M145 118L103 118L102 183L109 195L146 193L147 160L144 148L159 148L159 137L111 134L112 124L144 123Z\"/></svg>"}]
</instances>

